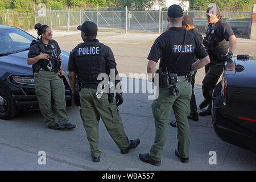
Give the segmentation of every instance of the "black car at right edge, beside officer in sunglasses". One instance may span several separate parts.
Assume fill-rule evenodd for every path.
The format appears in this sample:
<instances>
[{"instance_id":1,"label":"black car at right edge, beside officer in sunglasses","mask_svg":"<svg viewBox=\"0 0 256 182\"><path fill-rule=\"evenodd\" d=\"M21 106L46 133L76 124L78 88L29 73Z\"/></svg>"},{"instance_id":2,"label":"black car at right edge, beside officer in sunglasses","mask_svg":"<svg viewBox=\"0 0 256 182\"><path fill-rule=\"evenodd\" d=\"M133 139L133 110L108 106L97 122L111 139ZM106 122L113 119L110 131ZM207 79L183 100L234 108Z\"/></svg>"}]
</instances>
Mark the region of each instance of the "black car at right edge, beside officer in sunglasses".
<instances>
[{"instance_id":1,"label":"black car at right edge, beside officer in sunglasses","mask_svg":"<svg viewBox=\"0 0 256 182\"><path fill-rule=\"evenodd\" d=\"M212 120L222 140L256 152L256 57L238 55L213 92Z\"/></svg>"}]
</instances>

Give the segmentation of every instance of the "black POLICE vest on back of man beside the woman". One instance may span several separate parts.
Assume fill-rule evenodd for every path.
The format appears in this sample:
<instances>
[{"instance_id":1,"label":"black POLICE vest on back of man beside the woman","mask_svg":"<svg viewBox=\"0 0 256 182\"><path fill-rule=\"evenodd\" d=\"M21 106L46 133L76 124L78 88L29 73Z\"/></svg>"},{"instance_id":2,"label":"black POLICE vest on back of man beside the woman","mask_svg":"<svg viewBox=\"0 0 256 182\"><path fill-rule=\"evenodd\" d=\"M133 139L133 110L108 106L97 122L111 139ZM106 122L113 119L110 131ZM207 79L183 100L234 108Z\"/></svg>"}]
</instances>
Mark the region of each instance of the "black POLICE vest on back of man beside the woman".
<instances>
[{"instance_id":1,"label":"black POLICE vest on back of man beside the woman","mask_svg":"<svg viewBox=\"0 0 256 182\"><path fill-rule=\"evenodd\" d=\"M84 42L76 48L76 67L79 81L86 84L97 84L98 75L106 73L104 44L99 42Z\"/></svg>"}]
</instances>

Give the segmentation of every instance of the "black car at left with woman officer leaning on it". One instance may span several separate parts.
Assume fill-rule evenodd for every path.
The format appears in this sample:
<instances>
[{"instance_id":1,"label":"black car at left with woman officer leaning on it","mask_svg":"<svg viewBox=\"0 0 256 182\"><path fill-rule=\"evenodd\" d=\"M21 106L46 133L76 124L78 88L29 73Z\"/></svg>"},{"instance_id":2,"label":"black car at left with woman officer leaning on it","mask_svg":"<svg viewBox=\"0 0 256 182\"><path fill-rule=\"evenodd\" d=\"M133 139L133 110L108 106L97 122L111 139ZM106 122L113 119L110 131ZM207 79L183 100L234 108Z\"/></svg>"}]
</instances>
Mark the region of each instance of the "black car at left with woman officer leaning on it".
<instances>
[{"instance_id":1,"label":"black car at left with woman officer leaning on it","mask_svg":"<svg viewBox=\"0 0 256 182\"><path fill-rule=\"evenodd\" d=\"M19 111L39 110L32 65L27 54L34 36L12 26L0 25L0 119L13 118ZM68 80L69 52L61 50L66 104L72 104ZM54 101L53 101L54 103Z\"/></svg>"}]
</instances>

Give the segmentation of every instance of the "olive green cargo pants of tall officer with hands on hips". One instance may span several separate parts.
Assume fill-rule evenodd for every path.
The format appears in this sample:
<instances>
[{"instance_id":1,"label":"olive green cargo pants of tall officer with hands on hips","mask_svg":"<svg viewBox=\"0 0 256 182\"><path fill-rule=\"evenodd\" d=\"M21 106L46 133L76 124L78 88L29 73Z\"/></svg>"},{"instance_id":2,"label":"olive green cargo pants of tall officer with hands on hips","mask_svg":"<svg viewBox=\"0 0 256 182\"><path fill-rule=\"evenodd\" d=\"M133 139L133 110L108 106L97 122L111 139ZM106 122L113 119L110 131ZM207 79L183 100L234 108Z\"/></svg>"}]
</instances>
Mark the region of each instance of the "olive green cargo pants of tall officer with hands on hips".
<instances>
[{"instance_id":1,"label":"olive green cargo pants of tall officer with hands on hips","mask_svg":"<svg viewBox=\"0 0 256 182\"><path fill-rule=\"evenodd\" d=\"M154 160L161 160L172 109L174 109L177 123L177 149L182 158L189 156L190 130L187 117L190 113L192 86L188 81L179 81L175 85L179 89L177 96L170 95L169 90L172 85L159 88L159 97L152 104L152 113L155 118L155 141L150 150L150 157Z\"/></svg>"}]
</instances>

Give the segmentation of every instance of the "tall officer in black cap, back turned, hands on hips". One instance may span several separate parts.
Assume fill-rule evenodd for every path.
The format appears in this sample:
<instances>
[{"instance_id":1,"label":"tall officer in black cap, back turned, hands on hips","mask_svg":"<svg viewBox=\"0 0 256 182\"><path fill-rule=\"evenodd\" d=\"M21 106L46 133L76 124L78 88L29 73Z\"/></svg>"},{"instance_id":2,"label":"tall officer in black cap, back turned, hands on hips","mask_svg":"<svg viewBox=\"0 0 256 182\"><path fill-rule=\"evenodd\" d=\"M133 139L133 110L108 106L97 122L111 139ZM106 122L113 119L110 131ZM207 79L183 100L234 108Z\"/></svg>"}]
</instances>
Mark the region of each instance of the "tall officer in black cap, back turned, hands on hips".
<instances>
[{"instance_id":1,"label":"tall officer in black cap, back turned, hands on hips","mask_svg":"<svg viewBox=\"0 0 256 182\"><path fill-rule=\"evenodd\" d=\"M154 77L156 63L161 58L159 67L159 97L152 104L155 118L155 141L150 153L139 154L146 163L159 166L163 147L168 135L171 109L174 109L177 121L178 146L175 154L181 162L188 162L190 100L192 86L189 82L189 71L199 69L209 63L209 56L198 39L181 26L184 19L183 10L179 5L168 8L167 21L170 28L154 42L148 55L147 73ZM192 57L199 59L192 65ZM191 66L192 65L192 66ZM157 80L154 80L155 83Z\"/></svg>"}]
</instances>

